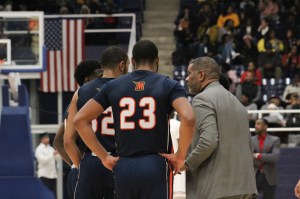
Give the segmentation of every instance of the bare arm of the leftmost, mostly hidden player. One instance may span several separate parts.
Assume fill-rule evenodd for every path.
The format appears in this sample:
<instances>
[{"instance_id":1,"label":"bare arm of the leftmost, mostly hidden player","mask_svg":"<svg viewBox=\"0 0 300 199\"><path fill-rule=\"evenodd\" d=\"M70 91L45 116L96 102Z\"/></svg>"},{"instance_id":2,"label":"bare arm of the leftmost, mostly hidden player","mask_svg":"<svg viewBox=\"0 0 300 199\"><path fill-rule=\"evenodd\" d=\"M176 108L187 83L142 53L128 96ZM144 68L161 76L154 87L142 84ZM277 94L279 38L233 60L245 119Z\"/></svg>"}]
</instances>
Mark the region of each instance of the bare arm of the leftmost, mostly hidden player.
<instances>
[{"instance_id":1,"label":"bare arm of the leftmost, mostly hidden player","mask_svg":"<svg viewBox=\"0 0 300 199\"><path fill-rule=\"evenodd\" d=\"M54 147L58 151L59 155L62 157L62 159L69 165L72 165L72 161L69 158L65 148L64 148L64 131L65 131L65 125L62 123L54 137Z\"/></svg>"}]
</instances>

